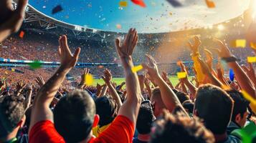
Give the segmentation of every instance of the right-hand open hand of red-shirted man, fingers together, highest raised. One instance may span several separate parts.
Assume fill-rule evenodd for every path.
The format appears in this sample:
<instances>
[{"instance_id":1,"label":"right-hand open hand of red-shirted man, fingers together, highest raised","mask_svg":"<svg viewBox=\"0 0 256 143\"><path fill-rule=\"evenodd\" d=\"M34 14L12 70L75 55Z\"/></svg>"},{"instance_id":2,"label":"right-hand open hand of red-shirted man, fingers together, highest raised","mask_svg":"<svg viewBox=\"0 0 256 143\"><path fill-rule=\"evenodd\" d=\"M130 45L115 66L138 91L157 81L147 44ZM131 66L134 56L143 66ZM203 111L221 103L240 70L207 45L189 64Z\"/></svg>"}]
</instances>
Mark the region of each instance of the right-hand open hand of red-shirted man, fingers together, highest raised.
<instances>
[{"instance_id":1,"label":"right-hand open hand of red-shirted man, fingers together, highest raised","mask_svg":"<svg viewBox=\"0 0 256 143\"><path fill-rule=\"evenodd\" d=\"M123 44L120 44L120 39L115 39L116 50L120 58L130 57L136 47L138 41L138 34L136 29L130 29L125 36Z\"/></svg>"}]
</instances>

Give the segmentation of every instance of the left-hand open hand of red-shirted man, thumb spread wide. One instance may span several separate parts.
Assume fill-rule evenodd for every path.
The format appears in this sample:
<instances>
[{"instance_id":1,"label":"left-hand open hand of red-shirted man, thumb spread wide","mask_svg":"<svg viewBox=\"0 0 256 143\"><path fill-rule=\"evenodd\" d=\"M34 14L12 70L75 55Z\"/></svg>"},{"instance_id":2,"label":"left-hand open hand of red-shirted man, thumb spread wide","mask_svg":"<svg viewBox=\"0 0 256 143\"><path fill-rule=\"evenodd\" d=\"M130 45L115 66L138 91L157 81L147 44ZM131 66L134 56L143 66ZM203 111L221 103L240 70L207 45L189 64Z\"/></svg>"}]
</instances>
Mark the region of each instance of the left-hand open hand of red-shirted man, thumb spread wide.
<instances>
[{"instance_id":1,"label":"left-hand open hand of red-shirted man, thumb spread wide","mask_svg":"<svg viewBox=\"0 0 256 143\"><path fill-rule=\"evenodd\" d=\"M75 66L78 60L78 56L80 54L81 49L77 48L75 50L74 55L71 53L69 46L67 45L67 36L60 36L59 39L59 54L60 54L60 62L64 69L71 69Z\"/></svg>"}]
</instances>

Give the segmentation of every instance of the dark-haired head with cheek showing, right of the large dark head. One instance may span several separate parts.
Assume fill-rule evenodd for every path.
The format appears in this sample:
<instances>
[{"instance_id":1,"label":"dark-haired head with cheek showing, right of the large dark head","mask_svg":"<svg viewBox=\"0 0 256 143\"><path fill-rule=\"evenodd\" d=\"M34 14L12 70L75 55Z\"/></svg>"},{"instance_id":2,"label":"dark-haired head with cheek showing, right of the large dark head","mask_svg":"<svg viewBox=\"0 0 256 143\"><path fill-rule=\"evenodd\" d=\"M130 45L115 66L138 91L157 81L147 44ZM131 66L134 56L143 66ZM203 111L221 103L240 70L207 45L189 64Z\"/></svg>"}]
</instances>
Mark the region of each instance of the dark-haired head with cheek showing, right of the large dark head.
<instances>
[{"instance_id":1,"label":"dark-haired head with cheek showing, right of the large dark head","mask_svg":"<svg viewBox=\"0 0 256 143\"><path fill-rule=\"evenodd\" d=\"M247 107L249 103L243 96L241 92L237 90L227 91L230 97L234 100L234 109L232 114L232 122L240 125L240 127L245 126L247 116L249 114Z\"/></svg>"}]
</instances>

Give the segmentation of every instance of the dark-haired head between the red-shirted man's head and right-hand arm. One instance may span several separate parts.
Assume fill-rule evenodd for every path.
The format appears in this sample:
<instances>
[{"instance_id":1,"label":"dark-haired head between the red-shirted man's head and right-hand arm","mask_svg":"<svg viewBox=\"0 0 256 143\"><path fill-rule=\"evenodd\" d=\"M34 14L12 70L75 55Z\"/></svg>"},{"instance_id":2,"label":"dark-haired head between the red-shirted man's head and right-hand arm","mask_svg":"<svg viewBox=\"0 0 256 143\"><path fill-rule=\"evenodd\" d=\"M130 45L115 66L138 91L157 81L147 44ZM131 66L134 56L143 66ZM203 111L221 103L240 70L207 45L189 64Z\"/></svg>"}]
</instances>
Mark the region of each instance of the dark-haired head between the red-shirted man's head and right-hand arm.
<instances>
[{"instance_id":1,"label":"dark-haired head between the red-shirted man's head and right-hand arm","mask_svg":"<svg viewBox=\"0 0 256 143\"><path fill-rule=\"evenodd\" d=\"M100 127L110 124L115 119L115 102L108 97L100 97L95 101L96 114L100 116Z\"/></svg>"}]
</instances>

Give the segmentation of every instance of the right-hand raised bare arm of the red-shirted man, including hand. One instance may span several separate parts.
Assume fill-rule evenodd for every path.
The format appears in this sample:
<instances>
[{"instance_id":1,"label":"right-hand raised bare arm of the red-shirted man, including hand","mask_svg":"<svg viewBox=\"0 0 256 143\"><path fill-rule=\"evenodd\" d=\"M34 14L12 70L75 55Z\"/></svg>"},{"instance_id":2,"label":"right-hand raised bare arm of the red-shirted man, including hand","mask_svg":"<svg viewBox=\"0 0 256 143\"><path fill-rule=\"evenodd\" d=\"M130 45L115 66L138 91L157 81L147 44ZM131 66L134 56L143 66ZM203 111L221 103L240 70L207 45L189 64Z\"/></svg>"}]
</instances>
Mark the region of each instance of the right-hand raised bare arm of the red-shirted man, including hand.
<instances>
[{"instance_id":1,"label":"right-hand raised bare arm of the red-shirted man, including hand","mask_svg":"<svg viewBox=\"0 0 256 143\"><path fill-rule=\"evenodd\" d=\"M122 61L123 69L125 71L125 83L126 83L126 100L120 107L118 114L121 114L136 124L138 117L138 110L141 105L141 89L138 83L138 76L131 70L133 68L132 54L138 41L138 35L136 29L130 29L125 36L123 44L120 45L120 40L115 40L115 46L118 55Z\"/></svg>"}]
</instances>

